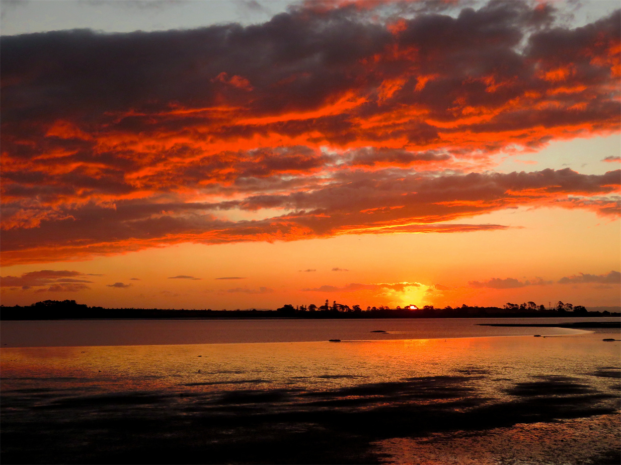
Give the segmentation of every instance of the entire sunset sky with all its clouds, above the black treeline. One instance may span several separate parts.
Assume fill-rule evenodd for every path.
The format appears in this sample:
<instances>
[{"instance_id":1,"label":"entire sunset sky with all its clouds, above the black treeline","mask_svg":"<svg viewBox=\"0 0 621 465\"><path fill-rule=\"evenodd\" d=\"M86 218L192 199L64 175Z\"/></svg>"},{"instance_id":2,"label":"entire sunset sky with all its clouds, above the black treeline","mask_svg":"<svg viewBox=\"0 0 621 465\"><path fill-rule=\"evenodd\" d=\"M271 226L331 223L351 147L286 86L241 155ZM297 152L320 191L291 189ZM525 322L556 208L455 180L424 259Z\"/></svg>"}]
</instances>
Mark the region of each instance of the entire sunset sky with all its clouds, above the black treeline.
<instances>
[{"instance_id":1,"label":"entire sunset sky with all its clouds, above the black treeline","mask_svg":"<svg viewBox=\"0 0 621 465\"><path fill-rule=\"evenodd\" d=\"M621 301L618 1L0 1L0 296Z\"/></svg>"}]
</instances>

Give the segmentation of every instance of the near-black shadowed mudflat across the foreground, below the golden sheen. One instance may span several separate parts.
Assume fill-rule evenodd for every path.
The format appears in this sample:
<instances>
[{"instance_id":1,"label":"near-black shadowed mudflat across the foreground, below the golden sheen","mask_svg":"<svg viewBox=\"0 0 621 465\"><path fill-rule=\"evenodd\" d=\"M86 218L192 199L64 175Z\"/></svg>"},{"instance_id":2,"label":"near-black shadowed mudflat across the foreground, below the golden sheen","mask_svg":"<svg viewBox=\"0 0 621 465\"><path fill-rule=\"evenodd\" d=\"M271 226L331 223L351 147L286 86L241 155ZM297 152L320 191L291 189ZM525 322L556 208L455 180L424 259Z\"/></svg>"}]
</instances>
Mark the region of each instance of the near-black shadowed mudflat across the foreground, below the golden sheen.
<instances>
[{"instance_id":1,"label":"near-black shadowed mudflat across the foreground, below the golden sheen","mask_svg":"<svg viewBox=\"0 0 621 465\"><path fill-rule=\"evenodd\" d=\"M589 375L612 382L619 371ZM586 457L582 451L575 463L620 463L619 449L610 441L619 430L614 395L571 377L540 376L514 384L512 399L490 402L474 387L481 378L415 378L338 391L256 389L181 399L161 393L85 396L39 407L36 422L7 414L2 463L372 464L386 458L371 446L374 441L443 435L450 445L447 438L465 434L480 441L497 428L510 431L519 425L524 433L529 425L598 415L607 415L607 428L598 433L604 447ZM3 403L4 409L25 407ZM591 424L597 423L584 423L580 433L592 433ZM557 432L558 447L568 440L566 429ZM518 442L504 444L512 446L524 448ZM542 454L542 463L549 459Z\"/></svg>"}]
</instances>

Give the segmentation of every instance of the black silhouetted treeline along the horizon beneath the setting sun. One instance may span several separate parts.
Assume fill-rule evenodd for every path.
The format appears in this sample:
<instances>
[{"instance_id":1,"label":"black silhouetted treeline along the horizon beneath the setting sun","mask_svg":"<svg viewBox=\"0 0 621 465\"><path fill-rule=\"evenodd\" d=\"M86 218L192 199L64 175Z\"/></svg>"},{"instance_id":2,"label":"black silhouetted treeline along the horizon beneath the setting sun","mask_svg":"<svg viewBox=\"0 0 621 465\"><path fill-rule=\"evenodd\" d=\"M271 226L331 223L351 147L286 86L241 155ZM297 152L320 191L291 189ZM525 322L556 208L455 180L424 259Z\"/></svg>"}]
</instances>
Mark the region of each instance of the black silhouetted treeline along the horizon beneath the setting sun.
<instances>
[{"instance_id":1,"label":"black silhouetted treeline along the horizon beneath the setting sun","mask_svg":"<svg viewBox=\"0 0 621 465\"><path fill-rule=\"evenodd\" d=\"M75 300L46 300L30 306L1 306L2 320L55 320L55 319L133 319L133 318L493 318L493 317L558 317L558 316L620 316L619 313L588 312L583 306L572 306L559 302L554 308L537 306L532 302L524 304L507 303L503 308L479 307L463 304L453 308L434 308L426 305L421 309L388 308L386 306L349 307L328 301L322 306L293 306L285 304L277 310L212 310L212 309L157 309L157 308L102 308L78 304Z\"/></svg>"}]
</instances>

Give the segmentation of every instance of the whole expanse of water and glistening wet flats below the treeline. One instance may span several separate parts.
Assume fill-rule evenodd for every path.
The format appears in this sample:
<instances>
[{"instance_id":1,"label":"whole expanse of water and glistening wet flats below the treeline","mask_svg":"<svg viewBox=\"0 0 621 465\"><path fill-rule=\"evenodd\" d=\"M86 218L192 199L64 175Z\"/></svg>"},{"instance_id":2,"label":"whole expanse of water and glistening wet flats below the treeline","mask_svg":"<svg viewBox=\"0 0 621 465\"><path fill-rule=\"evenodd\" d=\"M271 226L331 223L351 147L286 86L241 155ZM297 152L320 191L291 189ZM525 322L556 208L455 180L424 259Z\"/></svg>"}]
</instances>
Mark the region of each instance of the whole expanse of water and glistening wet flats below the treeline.
<instances>
[{"instance_id":1,"label":"whole expanse of water and glistening wet flats below the treeline","mask_svg":"<svg viewBox=\"0 0 621 465\"><path fill-rule=\"evenodd\" d=\"M619 463L621 331L482 325L573 321L4 321L1 459Z\"/></svg>"}]
</instances>

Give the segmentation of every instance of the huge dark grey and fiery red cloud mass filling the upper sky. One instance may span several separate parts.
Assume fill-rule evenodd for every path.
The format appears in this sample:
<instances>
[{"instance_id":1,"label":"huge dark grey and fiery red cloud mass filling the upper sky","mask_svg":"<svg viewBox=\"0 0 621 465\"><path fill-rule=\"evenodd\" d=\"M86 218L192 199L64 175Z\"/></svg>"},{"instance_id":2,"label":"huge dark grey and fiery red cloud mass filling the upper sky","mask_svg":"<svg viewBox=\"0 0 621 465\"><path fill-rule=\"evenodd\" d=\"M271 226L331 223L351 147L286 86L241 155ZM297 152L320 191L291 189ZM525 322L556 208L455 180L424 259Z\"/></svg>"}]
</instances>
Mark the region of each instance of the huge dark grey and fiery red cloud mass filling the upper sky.
<instances>
[{"instance_id":1,"label":"huge dark grey and fiery red cloud mass filling the upper sky","mask_svg":"<svg viewBox=\"0 0 621 465\"><path fill-rule=\"evenodd\" d=\"M466 218L516 206L618 218L619 170L490 171L619 131L620 13L572 29L561 10L302 2L247 27L3 37L2 263L494 231Z\"/></svg>"}]
</instances>

